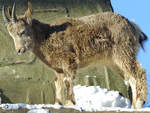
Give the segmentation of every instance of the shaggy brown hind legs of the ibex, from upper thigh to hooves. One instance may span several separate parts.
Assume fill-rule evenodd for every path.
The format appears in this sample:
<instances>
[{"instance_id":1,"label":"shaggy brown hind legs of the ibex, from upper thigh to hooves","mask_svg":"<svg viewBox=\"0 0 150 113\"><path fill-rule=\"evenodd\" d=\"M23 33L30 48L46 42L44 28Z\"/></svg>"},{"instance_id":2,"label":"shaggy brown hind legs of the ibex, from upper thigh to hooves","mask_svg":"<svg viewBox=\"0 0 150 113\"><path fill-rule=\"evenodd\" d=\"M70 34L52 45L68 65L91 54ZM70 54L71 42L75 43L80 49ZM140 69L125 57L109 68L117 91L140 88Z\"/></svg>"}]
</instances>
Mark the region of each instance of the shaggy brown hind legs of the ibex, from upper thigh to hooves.
<instances>
[{"instance_id":1,"label":"shaggy brown hind legs of the ibex, from upper thigh to hooves","mask_svg":"<svg viewBox=\"0 0 150 113\"><path fill-rule=\"evenodd\" d=\"M147 97L146 75L134 55L126 55L125 52L116 52L113 56L114 63L125 73L125 78L132 90L132 108L142 108Z\"/></svg>"}]
</instances>

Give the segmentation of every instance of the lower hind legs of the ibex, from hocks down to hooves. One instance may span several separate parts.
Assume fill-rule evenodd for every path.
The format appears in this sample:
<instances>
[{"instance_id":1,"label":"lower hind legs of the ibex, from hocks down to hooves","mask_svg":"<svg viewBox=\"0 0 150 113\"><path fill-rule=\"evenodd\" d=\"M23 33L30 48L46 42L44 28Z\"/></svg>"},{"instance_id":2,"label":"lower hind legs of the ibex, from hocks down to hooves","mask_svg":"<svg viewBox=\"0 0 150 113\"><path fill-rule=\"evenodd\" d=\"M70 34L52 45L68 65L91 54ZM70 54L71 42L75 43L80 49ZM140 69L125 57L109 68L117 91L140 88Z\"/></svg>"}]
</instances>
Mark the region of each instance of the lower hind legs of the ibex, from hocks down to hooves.
<instances>
[{"instance_id":1,"label":"lower hind legs of the ibex, from hocks down to hooves","mask_svg":"<svg viewBox=\"0 0 150 113\"><path fill-rule=\"evenodd\" d=\"M129 84L132 89L132 108L142 108L147 98L146 73L137 60L133 71L135 77L129 77Z\"/></svg>"}]
</instances>

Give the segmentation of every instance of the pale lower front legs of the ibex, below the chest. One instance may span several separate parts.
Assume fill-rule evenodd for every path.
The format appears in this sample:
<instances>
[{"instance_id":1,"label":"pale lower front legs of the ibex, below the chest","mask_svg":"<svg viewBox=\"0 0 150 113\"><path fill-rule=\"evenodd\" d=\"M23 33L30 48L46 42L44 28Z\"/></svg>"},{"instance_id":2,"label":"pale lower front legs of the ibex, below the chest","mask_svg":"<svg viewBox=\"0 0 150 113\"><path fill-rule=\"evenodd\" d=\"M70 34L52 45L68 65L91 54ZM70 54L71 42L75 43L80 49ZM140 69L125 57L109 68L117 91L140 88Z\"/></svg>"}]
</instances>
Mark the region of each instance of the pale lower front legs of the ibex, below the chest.
<instances>
[{"instance_id":1,"label":"pale lower front legs of the ibex, below the chest","mask_svg":"<svg viewBox=\"0 0 150 113\"><path fill-rule=\"evenodd\" d=\"M74 105L73 96L73 81L75 79L75 73L67 70L65 73L55 72L55 87L56 87L56 105Z\"/></svg>"}]
</instances>

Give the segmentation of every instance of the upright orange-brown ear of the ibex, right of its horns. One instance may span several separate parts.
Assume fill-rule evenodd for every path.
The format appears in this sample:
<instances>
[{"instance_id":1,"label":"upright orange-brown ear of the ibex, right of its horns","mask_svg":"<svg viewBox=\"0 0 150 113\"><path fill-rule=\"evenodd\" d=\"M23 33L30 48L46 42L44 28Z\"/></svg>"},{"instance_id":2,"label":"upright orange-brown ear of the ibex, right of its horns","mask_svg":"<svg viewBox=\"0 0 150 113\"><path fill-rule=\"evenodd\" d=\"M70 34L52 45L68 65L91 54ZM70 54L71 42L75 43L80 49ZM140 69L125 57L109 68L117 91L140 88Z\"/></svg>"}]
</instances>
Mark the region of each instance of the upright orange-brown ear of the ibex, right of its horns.
<instances>
[{"instance_id":1,"label":"upright orange-brown ear of the ibex, right of its horns","mask_svg":"<svg viewBox=\"0 0 150 113\"><path fill-rule=\"evenodd\" d=\"M25 18L28 24L32 25L32 8L31 1L28 0L28 9L25 12Z\"/></svg>"}]
</instances>

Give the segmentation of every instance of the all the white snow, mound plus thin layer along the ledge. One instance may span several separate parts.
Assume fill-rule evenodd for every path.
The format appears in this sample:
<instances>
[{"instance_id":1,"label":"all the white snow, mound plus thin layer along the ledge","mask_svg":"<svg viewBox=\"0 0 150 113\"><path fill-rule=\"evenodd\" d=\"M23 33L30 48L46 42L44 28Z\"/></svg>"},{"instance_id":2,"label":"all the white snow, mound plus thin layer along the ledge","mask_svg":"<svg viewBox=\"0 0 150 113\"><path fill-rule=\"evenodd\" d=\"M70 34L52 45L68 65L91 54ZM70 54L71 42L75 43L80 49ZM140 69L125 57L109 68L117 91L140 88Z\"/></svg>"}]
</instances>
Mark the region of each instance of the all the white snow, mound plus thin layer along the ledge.
<instances>
[{"instance_id":1,"label":"all the white snow, mound plus thin layer along the ledge","mask_svg":"<svg viewBox=\"0 0 150 113\"><path fill-rule=\"evenodd\" d=\"M119 95L117 91L108 91L107 89L100 88L99 86L80 86L77 85L73 88L75 95L75 106L62 106L52 104L0 104L0 108L5 110L11 109L29 109L28 113L50 113L48 108L72 108L79 111L128 111L128 112L150 112L150 108L131 109L130 101Z\"/></svg>"}]
</instances>

